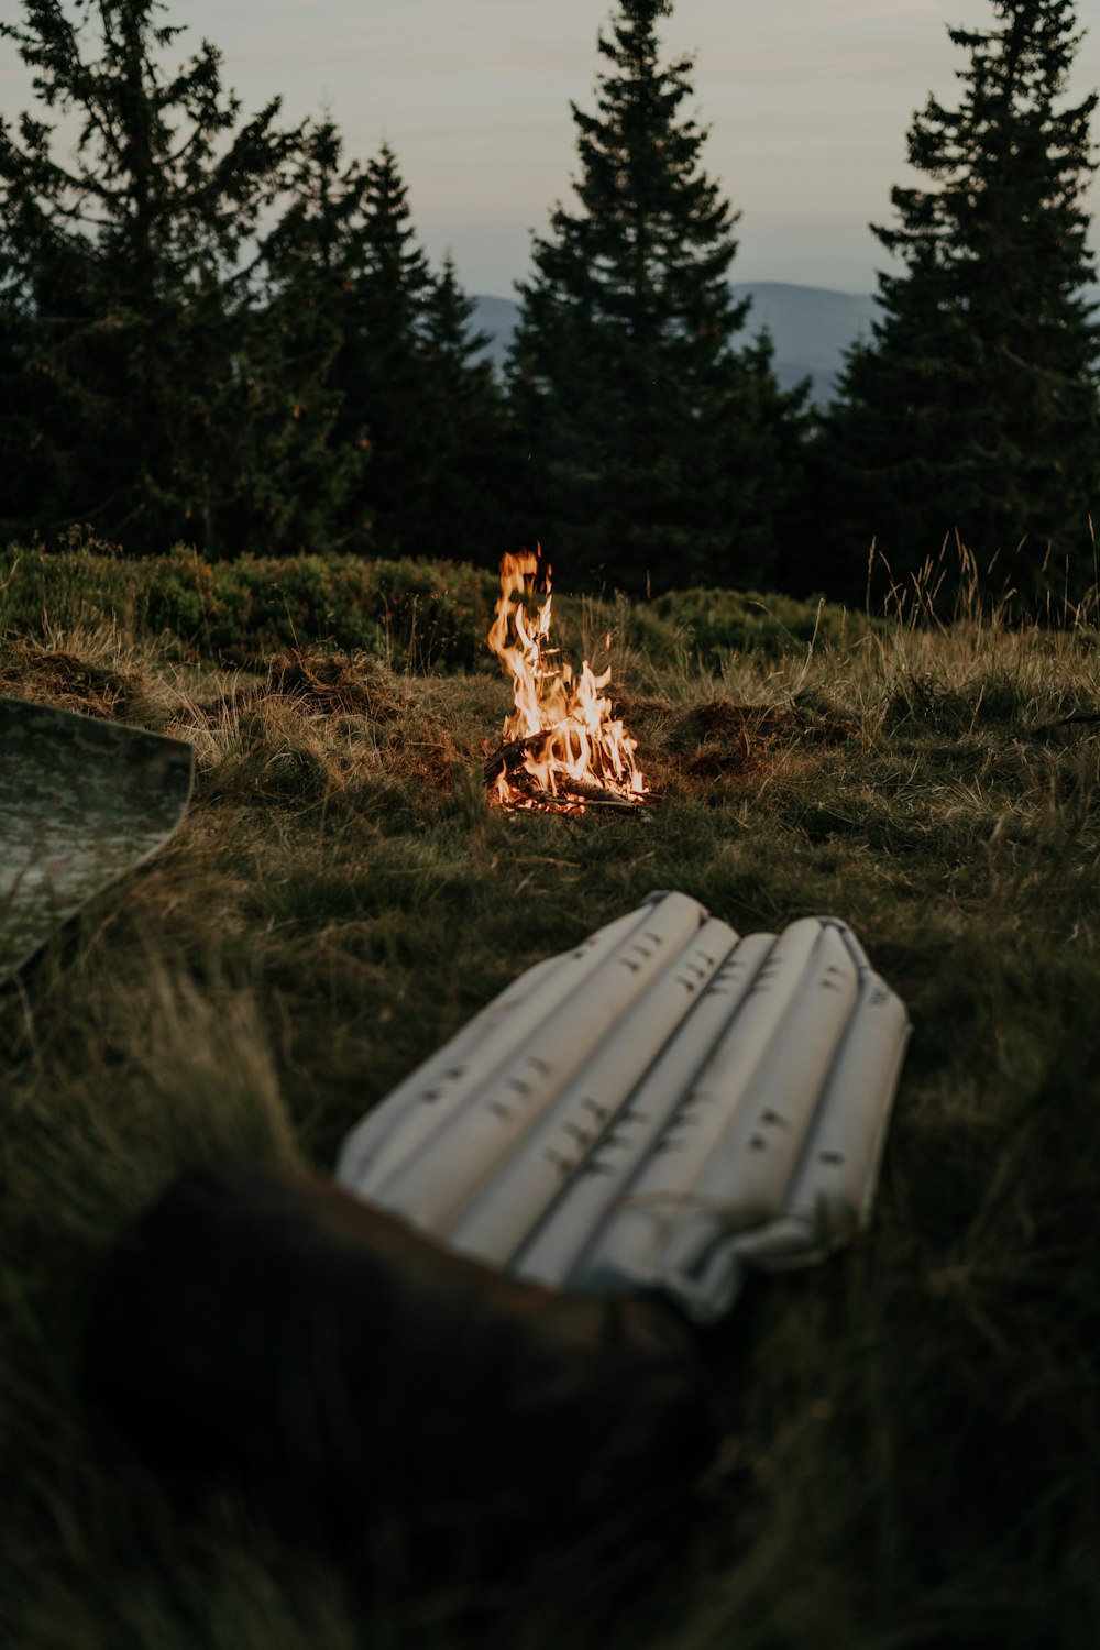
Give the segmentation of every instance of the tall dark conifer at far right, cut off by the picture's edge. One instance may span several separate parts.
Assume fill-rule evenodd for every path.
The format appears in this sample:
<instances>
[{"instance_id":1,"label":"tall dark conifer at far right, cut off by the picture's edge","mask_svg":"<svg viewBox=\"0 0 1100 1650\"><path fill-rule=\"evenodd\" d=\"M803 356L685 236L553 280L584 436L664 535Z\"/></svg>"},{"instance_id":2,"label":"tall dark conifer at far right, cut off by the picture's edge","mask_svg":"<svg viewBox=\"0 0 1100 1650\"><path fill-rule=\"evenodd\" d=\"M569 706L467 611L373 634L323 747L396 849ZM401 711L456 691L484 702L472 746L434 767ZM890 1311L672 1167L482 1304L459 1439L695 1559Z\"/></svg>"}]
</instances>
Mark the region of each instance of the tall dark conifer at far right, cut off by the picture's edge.
<instances>
[{"instance_id":1,"label":"tall dark conifer at far right, cut off by the picture's edge","mask_svg":"<svg viewBox=\"0 0 1100 1650\"><path fill-rule=\"evenodd\" d=\"M894 574L958 533L980 563L1037 587L1049 554L1092 574L1100 507L1100 328L1084 191L1097 97L1064 107L1080 36L1070 0L993 0L996 25L950 30L968 53L957 109L932 97L896 188L902 261L841 378L823 455L844 521L833 582L854 587L871 538ZM848 578L846 578L848 573Z\"/></svg>"}]
</instances>

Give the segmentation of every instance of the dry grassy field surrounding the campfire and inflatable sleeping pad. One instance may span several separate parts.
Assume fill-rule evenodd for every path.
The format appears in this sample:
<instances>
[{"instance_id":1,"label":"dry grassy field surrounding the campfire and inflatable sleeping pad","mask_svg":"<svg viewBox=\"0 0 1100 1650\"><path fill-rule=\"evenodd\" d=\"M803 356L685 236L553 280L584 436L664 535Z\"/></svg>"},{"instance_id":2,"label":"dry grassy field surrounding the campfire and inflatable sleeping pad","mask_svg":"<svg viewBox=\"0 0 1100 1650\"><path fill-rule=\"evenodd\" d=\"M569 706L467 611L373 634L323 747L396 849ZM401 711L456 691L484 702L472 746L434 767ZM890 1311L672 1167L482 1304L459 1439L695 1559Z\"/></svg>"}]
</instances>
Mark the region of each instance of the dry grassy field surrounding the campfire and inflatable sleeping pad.
<instances>
[{"instance_id":1,"label":"dry grassy field surrounding the campfire and inflatable sleeping pad","mask_svg":"<svg viewBox=\"0 0 1100 1650\"><path fill-rule=\"evenodd\" d=\"M0 1642L1095 1650L1095 610L564 602L571 652L612 632L663 800L562 818L487 807L508 691L424 642L422 592L366 652L285 599L289 634L234 655L143 578L0 561L0 693L191 739L200 769L173 845L0 992ZM508 1576L401 1589L381 1536L348 1564L236 1497L170 1505L74 1396L106 1244L185 1163L328 1168L490 995L653 888L742 932L844 917L914 1020L871 1234L707 1340L716 1470Z\"/></svg>"}]
</instances>

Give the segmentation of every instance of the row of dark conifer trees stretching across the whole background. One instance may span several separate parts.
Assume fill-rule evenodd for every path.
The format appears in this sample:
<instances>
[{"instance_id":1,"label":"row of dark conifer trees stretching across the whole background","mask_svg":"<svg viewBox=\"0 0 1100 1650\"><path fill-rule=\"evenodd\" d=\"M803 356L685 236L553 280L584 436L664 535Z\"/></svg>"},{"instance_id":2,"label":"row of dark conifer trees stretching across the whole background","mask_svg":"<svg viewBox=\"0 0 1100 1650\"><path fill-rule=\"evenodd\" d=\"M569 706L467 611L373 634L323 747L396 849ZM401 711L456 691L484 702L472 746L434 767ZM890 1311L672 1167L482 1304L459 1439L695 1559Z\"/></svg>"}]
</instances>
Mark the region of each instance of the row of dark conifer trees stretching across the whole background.
<instances>
[{"instance_id":1,"label":"row of dark conifer trees stretching across the whole background","mask_svg":"<svg viewBox=\"0 0 1100 1650\"><path fill-rule=\"evenodd\" d=\"M1031 594L1090 576L1097 99L1065 96L1070 0L952 31L957 102L912 119L922 186L867 201L891 272L820 412L731 295L739 214L693 64L663 59L670 10L628 0L600 35L576 200L534 236L495 375L393 148L241 109L152 0L28 0L3 25L28 109L0 129L0 535L213 559L539 541L577 589L628 594L853 597L872 541L905 578L955 538Z\"/></svg>"}]
</instances>

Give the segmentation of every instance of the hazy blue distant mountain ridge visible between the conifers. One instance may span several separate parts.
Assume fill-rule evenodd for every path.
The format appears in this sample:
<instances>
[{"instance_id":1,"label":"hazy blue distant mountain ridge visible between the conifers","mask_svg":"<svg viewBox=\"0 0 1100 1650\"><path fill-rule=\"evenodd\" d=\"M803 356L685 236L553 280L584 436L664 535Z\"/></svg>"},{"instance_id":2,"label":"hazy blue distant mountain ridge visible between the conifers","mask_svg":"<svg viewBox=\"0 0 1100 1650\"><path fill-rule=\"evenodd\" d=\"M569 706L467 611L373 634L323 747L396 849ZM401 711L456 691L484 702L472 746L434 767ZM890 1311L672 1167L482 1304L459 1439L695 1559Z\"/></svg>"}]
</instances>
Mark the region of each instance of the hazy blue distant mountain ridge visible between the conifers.
<instances>
[{"instance_id":1,"label":"hazy blue distant mountain ridge visible between the conifers","mask_svg":"<svg viewBox=\"0 0 1100 1650\"><path fill-rule=\"evenodd\" d=\"M876 300L871 292L833 292L828 287L800 287L787 280L745 280L732 287L734 297L752 299L745 332L755 337L765 327L775 343L775 376L783 389L810 380L811 398L825 404L836 389L844 350L871 332ZM487 356L501 366L519 318L511 299L473 299L473 327L491 338Z\"/></svg>"}]
</instances>

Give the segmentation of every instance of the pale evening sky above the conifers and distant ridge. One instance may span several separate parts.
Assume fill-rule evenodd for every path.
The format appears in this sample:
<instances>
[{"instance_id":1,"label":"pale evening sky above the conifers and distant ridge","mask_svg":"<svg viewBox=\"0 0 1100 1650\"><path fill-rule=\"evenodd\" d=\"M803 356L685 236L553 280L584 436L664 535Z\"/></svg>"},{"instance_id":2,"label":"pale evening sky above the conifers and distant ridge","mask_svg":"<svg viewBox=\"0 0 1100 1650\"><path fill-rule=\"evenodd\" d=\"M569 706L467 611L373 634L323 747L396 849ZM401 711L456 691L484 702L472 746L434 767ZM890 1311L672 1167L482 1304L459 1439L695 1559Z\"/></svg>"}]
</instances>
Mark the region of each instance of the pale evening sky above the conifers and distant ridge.
<instances>
[{"instance_id":1,"label":"pale evening sky above the conifers and distant ridge","mask_svg":"<svg viewBox=\"0 0 1100 1650\"><path fill-rule=\"evenodd\" d=\"M18 13L0 0L0 18ZM468 292L501 297L529 267L529 231L569 201L569 99L594 106L595 35L610 13L610 0L168 5L172 21L223 50L246 112L280 92L294 119L327 106L351 155L388 140L430 257L450 249ZM1090 28L1080 97L1100 84L1100 0L1079 0L1077 13ZM867 221L892 221L905 129L930 91L955 101L965 54L947 25L991 16L990 0L678 0L663 41L696 56L704 165L742 213L732 279L872 290L884 254ZM5 116L30 102L26 84L0 43ZM1100 214L1097 182L1090 205Z\"/></svg>"}]
</instances>

